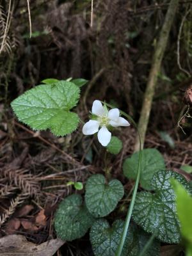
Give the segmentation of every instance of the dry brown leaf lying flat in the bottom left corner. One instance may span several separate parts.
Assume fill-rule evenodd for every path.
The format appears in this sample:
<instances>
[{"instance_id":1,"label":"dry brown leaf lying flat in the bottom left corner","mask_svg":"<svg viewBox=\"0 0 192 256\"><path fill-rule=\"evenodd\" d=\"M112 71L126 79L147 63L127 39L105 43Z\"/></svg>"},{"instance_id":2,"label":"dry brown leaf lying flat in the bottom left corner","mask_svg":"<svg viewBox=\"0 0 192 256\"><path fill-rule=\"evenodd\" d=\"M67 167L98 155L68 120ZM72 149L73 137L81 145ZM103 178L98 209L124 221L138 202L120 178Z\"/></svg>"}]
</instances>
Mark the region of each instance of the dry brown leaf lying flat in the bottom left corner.
<instances>
[{"instance_id":1,"label":"dry brown leaf lying flat in the bottom left corner","mask_svg":"<svg viewBox=\"0 0 192 256\"><path fill-rule=\"evenodd\" d=\"M65 243L61 239L51 239L36 245L20 235L5 236L0 239L0 255L4 256L52 256Z\"/></svg>"}]
</instances>

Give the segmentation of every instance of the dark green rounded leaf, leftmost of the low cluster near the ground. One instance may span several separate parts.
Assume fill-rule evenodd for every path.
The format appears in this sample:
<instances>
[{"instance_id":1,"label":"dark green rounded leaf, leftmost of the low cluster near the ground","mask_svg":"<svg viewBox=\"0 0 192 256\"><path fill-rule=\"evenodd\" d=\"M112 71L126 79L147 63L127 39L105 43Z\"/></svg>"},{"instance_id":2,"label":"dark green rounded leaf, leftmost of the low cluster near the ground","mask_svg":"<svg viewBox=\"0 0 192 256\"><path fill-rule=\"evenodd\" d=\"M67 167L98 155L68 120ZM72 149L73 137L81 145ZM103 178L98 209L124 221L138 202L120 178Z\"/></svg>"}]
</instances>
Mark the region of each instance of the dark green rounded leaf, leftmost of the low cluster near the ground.
<instances>
[{"instance_id":1,"label":"dark green rounded leaf, leftmost of the low cluster near the ground","mask_svg":"<svg viewBox=\"0 0 192 256\"><path fill-rule=\"evenodd\" d=\"M59 205L54 228L61 239L72 241L80 238L92 226L94 218L82 201L81 195L70 195Z\"/></svg>"}]
</instances>

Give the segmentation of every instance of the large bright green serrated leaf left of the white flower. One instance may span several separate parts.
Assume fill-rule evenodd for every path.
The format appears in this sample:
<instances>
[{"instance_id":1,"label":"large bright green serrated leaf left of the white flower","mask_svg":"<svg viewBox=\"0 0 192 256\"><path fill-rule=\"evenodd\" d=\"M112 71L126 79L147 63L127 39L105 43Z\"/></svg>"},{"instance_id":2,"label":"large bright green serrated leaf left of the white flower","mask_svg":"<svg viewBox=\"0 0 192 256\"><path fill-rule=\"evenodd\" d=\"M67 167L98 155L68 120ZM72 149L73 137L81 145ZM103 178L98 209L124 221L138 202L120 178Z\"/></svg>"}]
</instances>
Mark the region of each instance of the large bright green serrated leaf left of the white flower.
<instances>
[{"instance_id":1,"label":"large bright green serrated leaf left of the white flower","mask_svg":"<svg viewBox=\"0 0 192 256\"><path fill-rule=\"evenodd\" d=\"M79 88L74 83L58 81L42 84L13 100L18 119L35 130L51 131L64 136L77 129L79 117L70 112L79 100Z\"/></svg>"}]
</instances>

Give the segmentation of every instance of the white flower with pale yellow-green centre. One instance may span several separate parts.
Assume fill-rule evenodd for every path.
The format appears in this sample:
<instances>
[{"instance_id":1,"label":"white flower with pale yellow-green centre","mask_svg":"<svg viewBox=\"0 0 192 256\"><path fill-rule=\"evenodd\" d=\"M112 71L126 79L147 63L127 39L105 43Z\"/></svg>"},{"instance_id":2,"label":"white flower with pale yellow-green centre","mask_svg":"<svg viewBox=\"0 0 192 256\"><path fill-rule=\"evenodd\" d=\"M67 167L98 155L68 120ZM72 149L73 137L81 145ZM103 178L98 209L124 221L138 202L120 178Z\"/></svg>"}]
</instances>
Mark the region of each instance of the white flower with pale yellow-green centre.
<instances>
[{"instance_id":1,"label":"white flower with pale yellow-green centre","mask_svg":"<svg viewBox=\"0 0 192 256\"><path fill-rule=\"evenodd\" d=\"M97 137L100 144L106 147L111 140L111 132L108 131L108 126L129 126L129 122L120 116L118 108L113 108L108 111L102 106L100 100L95 100L92 106L92 114L97 116L97 120L89 120L83 125L83 134L91 135L98 132ZM99 127L100 130L99 130Z\"/></svg>"}]
</instances>

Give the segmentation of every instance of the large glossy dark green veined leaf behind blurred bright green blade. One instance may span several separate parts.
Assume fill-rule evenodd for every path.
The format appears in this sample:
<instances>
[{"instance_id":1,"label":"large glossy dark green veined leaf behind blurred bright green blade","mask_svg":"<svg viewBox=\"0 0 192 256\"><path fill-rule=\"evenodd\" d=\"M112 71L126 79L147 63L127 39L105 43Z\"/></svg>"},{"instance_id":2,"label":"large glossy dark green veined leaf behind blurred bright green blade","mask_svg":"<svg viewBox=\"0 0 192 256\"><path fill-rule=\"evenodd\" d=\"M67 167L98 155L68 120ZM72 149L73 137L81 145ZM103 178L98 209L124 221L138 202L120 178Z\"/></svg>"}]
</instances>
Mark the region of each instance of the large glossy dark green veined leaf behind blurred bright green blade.
<instances>
[{"instance_id":1,"label":"large glossy dark green veined leaf behind blurred bright green blade","mask_svg":"<svg viewBox=\"0 0 192 256\"><path fill-rule=\"evenodd\" d=\"M182 175L161 170L154 174L151 181L154 193L142 191L137 194L132 217L145 231L156 234L161 241L179 243L180 225L170 178L179 180L184 188L191 190Z\"/></svg>"}]
</instances>

